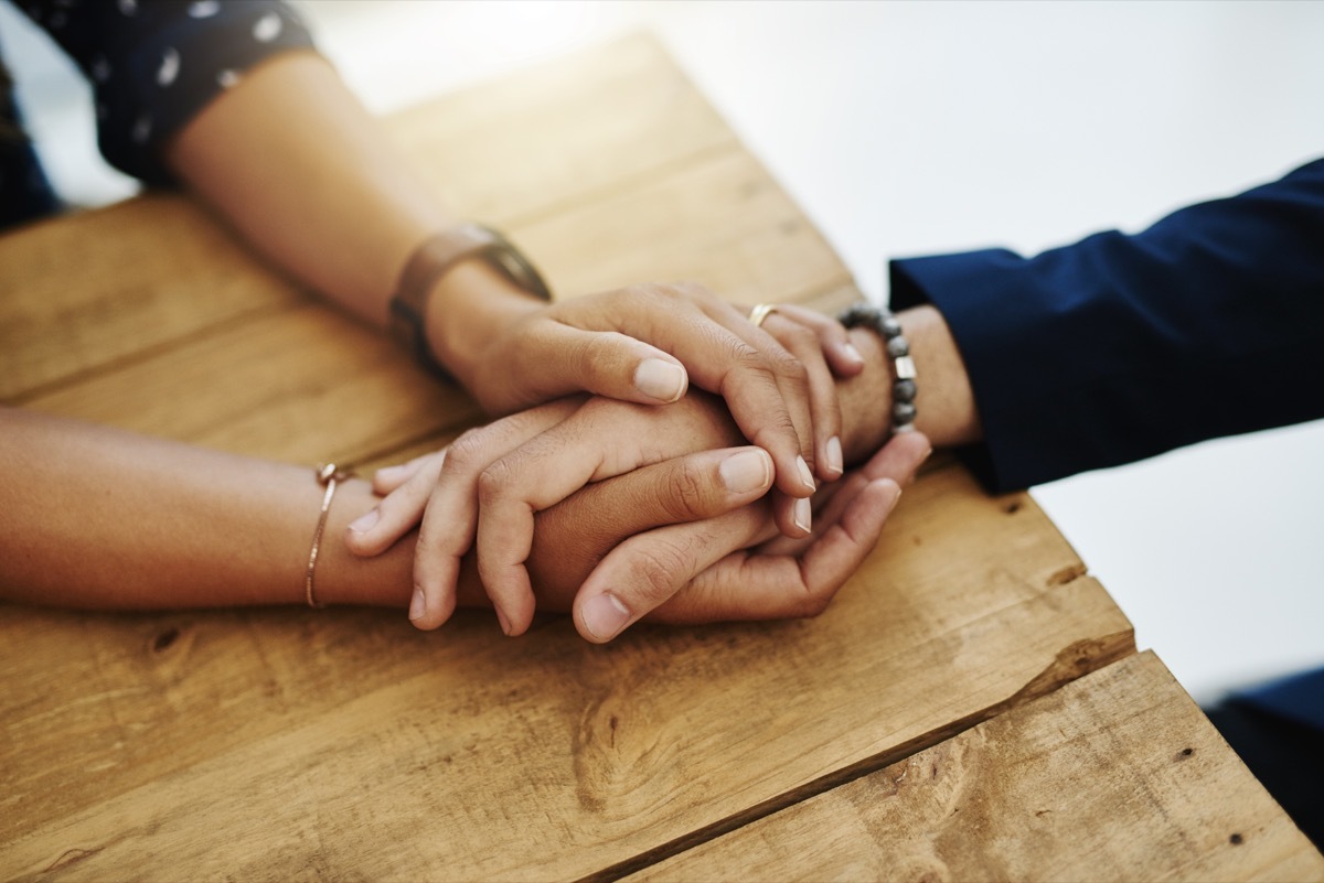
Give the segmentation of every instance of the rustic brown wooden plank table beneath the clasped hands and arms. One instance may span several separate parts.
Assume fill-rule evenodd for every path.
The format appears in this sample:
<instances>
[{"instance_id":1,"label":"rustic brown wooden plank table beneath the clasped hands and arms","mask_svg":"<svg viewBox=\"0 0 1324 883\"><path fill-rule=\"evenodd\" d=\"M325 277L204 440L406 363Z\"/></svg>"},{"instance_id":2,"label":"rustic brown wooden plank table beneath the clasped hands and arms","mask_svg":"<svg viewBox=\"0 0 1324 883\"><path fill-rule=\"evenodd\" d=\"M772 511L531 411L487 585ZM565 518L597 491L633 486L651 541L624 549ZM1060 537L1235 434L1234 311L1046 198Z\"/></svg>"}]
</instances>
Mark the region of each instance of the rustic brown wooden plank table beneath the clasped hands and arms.
<instances>
[{"instance_id":1,"label":"rustic brown wooden plank table beneath the clasped hands and arms","mask_svg":"<svg viewBox=\"0 0 1324 883\"><path fill-rule=\"evenodd\" d=\"M559 292L857 296L647 37L389 126ZM9 404L367 468L478 418L175 196L0 238L0 289ZM951 461L813 621L8 605L0 681L7 879L1324 880L1034 501Z\"/></svg>"}]
</instances>

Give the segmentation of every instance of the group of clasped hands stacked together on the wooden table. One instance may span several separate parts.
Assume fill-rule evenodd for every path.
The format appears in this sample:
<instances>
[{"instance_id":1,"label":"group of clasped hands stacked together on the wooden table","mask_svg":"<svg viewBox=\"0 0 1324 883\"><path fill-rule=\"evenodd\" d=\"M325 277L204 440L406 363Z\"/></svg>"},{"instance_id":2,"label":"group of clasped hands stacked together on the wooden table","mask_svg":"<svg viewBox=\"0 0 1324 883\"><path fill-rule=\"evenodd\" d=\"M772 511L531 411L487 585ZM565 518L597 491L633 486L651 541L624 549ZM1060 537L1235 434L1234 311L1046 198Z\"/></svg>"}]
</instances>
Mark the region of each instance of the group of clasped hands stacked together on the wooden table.
<instances>
[{"instance_id":1,"label":"group of clasped hands stacked together on the wooden table","mask_svg":"<svg viewBox=\"0 0 1324 883\"><path fill-rule=\"evenodd\" d=\"M507 634L526 631L534 615L526 562L539 579L539 600L548 603L549 583L561 595L571 588L563 600L575 599L576 627L597 641L665 604L691 578L723 592L733 588L737 574L744 582L765 574L740 599L745 616L757 609L752 597L764 590L784 594L792 576L801 604L822 596L825 587L830 597L873 547L899 489L855 476L847 490L809 500L809 463L824 479L842 475L833 374L858 373L863 361L841 325L812 311L756 308L755 319L764 328L692 286L643 286L527 312L467 362L465 379L486 406L504 410L580 387L616 398L556 401L473 430L445 452L381 471L375 489L387 497L351 527L351 550L379 554L421 522L410 605L418 628L436 628L450 616L471 549L477 578ZM699 367L687 373L663 349L612 328L647 332L685 365ZM691 375L723 394L727 407L707 395L685 397ZM745 440L741 434L761 440L764 449L731 448ZM896 445L878 467L886 475L875 477L908 479L927 449L922 438ZM788 484L789 494L749 505L773 485L788 490ZM620 546L580 558L588 567L540 566L565 558L544 541L548 533L557 535L544 522L560 525L561 535L583 547L584 526L579 534L575 526L567 530L564 513L584 513L585 525L593 523L587 501L602 501L602 494L616 504L604 512L614 509L618 517L598 534ZM622 509L622 498L634 505ZM826 518L817 537L816 509ZM688 523L694 519L710 521ZM768 545L765 555L731 558L768 542L777 527L786 537ZM769 579L779 568L785 568L780 579ZM568 572L579 579L569 587L559 580ZM737 597L740 592L728 594L727 603ZM785 611L785 601L768 609ZM667 609L678 615L675 604Z\"/></svg>"}]
</instances>

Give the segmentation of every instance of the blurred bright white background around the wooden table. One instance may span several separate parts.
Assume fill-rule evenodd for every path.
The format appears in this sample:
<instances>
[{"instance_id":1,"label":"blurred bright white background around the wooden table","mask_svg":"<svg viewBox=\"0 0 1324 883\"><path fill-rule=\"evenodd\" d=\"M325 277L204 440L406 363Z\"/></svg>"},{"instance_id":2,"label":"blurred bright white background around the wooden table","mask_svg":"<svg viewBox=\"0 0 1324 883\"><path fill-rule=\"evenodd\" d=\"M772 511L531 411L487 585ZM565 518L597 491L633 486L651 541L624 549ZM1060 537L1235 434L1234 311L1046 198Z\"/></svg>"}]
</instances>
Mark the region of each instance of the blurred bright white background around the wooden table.
<instances>
[{"instance_id":1,"label":"blurred bright white background around the wooden table","mask_svg":"<svg viewBox=\"0 0 1324 883\"><path fill-rule=\"evenodd\" d=\"M295 5L377 112L651 29L873 297L887 256L1137 230L1324 155L1320 3ZM0 40L66 198L132 193L70 65L3 4ZM1034 496L1209 702L1324 664L1321 453L1316 422Z\"/></svg>"}]
</instances>

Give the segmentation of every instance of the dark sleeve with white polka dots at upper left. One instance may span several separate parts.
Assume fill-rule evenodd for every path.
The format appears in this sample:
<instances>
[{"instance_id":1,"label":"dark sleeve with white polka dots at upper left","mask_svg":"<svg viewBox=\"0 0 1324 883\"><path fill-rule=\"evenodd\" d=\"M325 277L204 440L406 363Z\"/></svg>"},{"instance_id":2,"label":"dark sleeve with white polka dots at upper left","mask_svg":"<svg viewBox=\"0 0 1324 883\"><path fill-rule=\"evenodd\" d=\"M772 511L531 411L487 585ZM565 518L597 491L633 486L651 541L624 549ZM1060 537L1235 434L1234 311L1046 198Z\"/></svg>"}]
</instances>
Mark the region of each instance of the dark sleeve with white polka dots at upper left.
<instances>
[{"instance_id":1,"label":"dark sleeve with white polka dots at upper left","mask_svg":"<svg viewBox=\"0 0 1324 883\"><path fill-rule=\"evenodd\" d=\"M312 49L278 0L25 0L20 7L93 83L101 152L150 184L169 184L162 145L258 62Z\"/></svg>"}]
</instances>

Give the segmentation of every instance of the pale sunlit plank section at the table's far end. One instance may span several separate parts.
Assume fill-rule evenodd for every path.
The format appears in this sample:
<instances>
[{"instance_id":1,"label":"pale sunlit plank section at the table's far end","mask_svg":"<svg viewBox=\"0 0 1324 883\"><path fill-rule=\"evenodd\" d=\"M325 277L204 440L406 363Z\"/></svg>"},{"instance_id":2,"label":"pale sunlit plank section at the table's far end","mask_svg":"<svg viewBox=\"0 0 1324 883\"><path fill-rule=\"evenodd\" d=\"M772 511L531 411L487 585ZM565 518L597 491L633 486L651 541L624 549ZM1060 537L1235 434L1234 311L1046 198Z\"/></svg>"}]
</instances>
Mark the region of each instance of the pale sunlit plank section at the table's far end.
<instances>
[{"instance_id":1,"label":"pale sunlit plank section at the table's far end","mask_svg":"<svg viewBox=\"0 0 1324 883\"><path fill-rule=\"evenodd\" d=\"M649 34L444 95L389 128L448 205L506 225L736 144Z\"/></svg>"}]
</instances>

